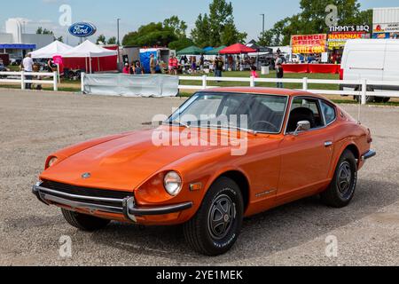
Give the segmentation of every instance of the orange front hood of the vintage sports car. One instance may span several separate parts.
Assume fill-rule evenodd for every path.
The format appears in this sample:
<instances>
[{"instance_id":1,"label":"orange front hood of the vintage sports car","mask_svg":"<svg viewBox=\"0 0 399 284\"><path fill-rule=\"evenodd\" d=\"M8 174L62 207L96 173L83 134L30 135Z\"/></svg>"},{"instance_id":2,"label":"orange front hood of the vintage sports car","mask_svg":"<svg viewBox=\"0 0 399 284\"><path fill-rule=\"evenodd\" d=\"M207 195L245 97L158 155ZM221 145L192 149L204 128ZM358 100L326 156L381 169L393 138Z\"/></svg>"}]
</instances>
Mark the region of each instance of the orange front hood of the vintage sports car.
<instances>
[{"instance_id":1,"label":"orange front hood of the vintage sports car","mask_svg":"<svg viewBox=\"0 0 399 284\"><path fill-rule=\"evenodd\" d=\"M41 179L70 185L129 191L162 170L178 170L169 169L168 166L172 163L176 165L183 158L187 161L186 158L190 155L215 149L230 151L230 146L182 146L189 138L180 138L180 146L156 146L153 143L153 135L162 133L177 136L182 130L171 130L168 127L142 130L91 146L45 170ZM216 131L208 133L205 142L214 141L215 136L228 135ZM90 177L83 178L82 175L85 173L90 173Z\"/></svg>"}]
</instances>

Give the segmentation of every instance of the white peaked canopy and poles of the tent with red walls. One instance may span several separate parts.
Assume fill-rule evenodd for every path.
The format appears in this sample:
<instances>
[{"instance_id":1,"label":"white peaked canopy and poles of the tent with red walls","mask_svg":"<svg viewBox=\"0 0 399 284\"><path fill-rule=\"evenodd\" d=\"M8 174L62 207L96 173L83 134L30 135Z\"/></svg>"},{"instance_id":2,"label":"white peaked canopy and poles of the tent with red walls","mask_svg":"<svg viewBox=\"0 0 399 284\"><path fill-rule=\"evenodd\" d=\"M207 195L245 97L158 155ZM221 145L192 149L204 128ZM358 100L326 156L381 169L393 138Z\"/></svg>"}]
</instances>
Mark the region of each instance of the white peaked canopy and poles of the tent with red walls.
<instances>
[{"instance_id":1,"label":"white peaked canopy and poles of the tent with red walls","mask_svg":"<svg viewBox=\"0 0 399 284\"><path fill-rule=\"evenodd\" d=\"M89 59L90 65L90 73L91 73L91 59L92 58L100 58L100 57L107 57L107 56L116 56L118 55L118 51L111 51L98 46L95 43L91 43L89 40L85 41L84 43L79 44L78 46L74 47L70 51L66 51L62 54L63 58L85 58ZM99 62L98 62L99 64ZM86 63L87 66L87 63ZM87 67L86 67L87 69Z\"/></svg>"}]
</instances>

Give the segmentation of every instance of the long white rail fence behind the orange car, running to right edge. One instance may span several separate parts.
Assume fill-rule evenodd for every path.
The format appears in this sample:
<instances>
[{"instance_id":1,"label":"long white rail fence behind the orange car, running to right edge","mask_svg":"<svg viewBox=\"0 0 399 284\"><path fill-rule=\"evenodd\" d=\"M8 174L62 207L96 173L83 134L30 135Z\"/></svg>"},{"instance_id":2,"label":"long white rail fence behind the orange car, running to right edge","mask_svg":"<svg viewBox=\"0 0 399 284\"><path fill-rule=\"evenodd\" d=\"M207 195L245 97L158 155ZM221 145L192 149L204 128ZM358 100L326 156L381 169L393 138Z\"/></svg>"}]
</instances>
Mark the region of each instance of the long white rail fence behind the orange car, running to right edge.
<instances>
[{"instance_id":1,"label":"long white rail fence behind the orange car, running to right edge","mask_svg":"<svg viewBox=\"0 0 399 284\"><path fill-rule=\"evenodd\" d=\"M254 78L254 77L208 77L203 76L180 76L180 81L200 81L201 85L179 85L179 90L206 90L215 88L215 86L208 85L208 82L239 82L248 83L250 87L254 87L256 83L301 83L301 91L309 91L321 95L349 95L361 97L362 104L366 104L366 97L387 97L387 98L399 98L399 91L367 91L367 87L370 85L378 86L395 86L399 89L399 83L387 82L387 81L369 81L369 80L317 80L317 79L273 79L273 78ZM335 85L356 85L362 86L361 91L333 91L333 90L311 90L309 84L335 84Z\"/></svg>"}]
</instances>

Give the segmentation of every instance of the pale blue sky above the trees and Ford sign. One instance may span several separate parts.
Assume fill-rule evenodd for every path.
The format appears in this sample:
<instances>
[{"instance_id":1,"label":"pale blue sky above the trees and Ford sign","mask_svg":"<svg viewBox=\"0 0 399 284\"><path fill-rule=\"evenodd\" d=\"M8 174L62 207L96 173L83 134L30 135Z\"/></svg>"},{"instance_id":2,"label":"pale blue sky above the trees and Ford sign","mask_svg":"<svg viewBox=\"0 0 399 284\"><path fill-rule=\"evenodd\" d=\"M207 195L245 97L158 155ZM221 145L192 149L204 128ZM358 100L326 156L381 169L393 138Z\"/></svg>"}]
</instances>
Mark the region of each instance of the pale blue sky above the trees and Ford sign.
<instances>
[{"instance_id":1,"label":"pale blue sky above the trees and Ford sign","mask_svg":"<svg viewBox=\"0 0 399 284\"><path fill-rule=\"evenodd\" d=\"M315 0L317 1L317 0ZM59 6L72 7L72 20L89 20L98 27L98 35L116 36L116 19L121 18L121 36L136 30L151 21L162 21L171 15L185 20L193 28L197 16L207 12L211 0L28 0L4 1L0 13L0 32L4 32L4 21L9 18L23 18L28 32L39 26L51 28L56 36L64 36L69 43L75 43L72 36L66 38L66 28L59 26ZM234 6L236 24L248 33L248 40L257 38L262 30L262 17L266 14L266 28L299 12L299 0L231 0ZM399 6L398 0L360 0L362 9Z\"/></svg>"}]
</instances>

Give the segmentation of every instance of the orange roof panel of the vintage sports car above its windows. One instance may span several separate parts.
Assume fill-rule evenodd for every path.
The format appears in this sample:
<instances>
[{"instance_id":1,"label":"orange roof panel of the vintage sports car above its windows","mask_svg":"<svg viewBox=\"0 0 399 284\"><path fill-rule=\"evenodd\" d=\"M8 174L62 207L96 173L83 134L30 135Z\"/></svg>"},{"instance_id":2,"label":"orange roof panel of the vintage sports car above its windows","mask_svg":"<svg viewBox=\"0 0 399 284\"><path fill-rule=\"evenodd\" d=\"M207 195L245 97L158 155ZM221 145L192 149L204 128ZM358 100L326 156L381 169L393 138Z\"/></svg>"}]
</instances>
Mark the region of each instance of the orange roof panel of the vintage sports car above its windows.
<instances>
[{"instance_id":1,"label":"orange roof panel of the vintage sports car above its windows","mask_svg":"<svg viewBox=\"0 0 399 284\"><path fill-rule=\"evenodd\" d=\"M237 93L249 93L249 94L260 94L260 95L284 95L284 96L312 96L316 98L322 98L317 94L313 94L308 91L299 91L291 89L277 89L277 88L260 88L260 87L228 87L228 88L212 88L204 90L206 92L237 92Z\"/></svg>"}]
</instances>

